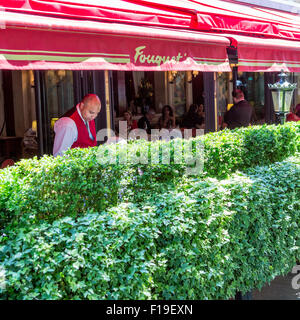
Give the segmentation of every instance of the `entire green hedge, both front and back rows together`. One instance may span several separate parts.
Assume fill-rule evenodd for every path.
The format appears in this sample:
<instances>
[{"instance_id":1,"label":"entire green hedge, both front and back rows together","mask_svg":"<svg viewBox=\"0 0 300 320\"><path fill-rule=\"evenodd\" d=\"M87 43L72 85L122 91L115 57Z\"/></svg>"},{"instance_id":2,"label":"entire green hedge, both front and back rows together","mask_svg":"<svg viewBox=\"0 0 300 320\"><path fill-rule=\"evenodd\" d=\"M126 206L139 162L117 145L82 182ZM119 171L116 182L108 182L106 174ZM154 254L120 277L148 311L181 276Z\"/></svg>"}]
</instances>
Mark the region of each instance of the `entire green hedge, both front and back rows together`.
<instances>
[{"instance_id":1,"label":"entire green hedge, both front and back rows together","mask_svg":"<svg viewBox=\"0 0 300 320\"><path fill-rule=\"evenodd\" d=\"M170 149L169 165L97 161L99 150L119 159L120 144L1 170L0 298L227 299L261 287L299 259L299 137L300 124L264 125L127 146ZM174 148L199 142L204 168L188 176Z\"/></svg>"}]
</instances>

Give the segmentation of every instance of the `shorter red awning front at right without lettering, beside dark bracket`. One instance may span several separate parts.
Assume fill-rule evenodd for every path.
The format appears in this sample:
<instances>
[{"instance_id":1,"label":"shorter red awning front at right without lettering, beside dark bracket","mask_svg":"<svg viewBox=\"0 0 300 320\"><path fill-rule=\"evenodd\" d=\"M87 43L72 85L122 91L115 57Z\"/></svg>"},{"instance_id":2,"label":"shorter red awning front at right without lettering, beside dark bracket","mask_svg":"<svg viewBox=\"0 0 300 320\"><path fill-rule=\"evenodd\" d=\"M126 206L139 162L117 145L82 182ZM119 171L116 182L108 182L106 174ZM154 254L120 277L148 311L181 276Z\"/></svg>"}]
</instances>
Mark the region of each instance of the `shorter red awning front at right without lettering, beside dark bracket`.
<instances>
[{"instance_id":1,"label":"shorter red awning front at right without lettering, beside dark bracket","mask_svg":"<svg viewBox=\"0 0 300 320\"><path fill-rule=\"evenodd\" d=\"M300 42L232 36L238 48L239 71L300 72Z\"/></svg>"}]
</instances>

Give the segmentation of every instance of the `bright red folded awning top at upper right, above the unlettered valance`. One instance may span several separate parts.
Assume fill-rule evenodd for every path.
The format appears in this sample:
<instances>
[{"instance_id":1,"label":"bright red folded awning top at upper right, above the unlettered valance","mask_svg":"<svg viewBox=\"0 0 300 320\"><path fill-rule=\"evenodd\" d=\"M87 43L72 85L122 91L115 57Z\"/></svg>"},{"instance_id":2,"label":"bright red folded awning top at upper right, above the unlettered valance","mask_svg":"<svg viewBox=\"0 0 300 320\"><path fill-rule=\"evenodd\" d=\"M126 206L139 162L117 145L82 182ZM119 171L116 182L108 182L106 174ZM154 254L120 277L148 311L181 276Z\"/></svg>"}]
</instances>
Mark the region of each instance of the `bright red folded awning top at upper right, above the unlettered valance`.
<instances>
[{"instance_id":1,"label":"bright red folded awning top at upper right, above the unlettered valance","mask_svg":"<svg viewBox=\"0 0 300 320\"><path fill-rule=\"evenodd\" d=\"M190 28L214 33L232 33L265 38L300 40L300 17L256 5L221 0L141 0L156 8L182 9L191 15Z\"/></svg>"}]
</instances>

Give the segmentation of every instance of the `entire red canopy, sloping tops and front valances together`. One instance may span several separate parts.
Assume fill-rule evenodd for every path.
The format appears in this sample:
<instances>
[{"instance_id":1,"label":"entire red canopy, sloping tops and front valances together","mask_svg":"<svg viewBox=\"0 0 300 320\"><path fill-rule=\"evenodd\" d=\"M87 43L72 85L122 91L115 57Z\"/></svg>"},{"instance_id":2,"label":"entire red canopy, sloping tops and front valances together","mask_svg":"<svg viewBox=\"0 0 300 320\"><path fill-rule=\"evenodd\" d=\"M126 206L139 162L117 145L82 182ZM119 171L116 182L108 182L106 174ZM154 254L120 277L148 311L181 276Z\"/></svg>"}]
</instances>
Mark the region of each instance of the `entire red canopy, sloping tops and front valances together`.
<instances>
[{"instance_id":1,"label":"entire red canopy, sloping tops and front valances together","mask_svg":"<svg viewBox=\"0 0 300 320\"><path fill-rule=\"evenodd\" d=\"M230 0L0 0L1 6L3 69L229 71L227 34L241 71L283 64L298 71L298 49L291 47L298 48L299 16L277 10Z\"/></svg>"}]
</instances>

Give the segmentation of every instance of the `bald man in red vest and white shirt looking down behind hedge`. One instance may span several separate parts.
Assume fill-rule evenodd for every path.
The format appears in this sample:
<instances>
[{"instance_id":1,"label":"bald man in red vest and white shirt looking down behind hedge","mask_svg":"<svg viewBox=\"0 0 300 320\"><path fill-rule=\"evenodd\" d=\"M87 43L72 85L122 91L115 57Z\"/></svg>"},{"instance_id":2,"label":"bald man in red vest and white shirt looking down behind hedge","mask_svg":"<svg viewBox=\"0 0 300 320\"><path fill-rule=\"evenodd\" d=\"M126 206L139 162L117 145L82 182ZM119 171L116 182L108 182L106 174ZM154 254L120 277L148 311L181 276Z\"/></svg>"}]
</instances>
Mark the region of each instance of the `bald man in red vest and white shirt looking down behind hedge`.
<instances>
[{"instance_id":1,"label":"bald man in red vest and white shirt looking down behind hedge","mask_svg":"<svg viewBox=\"0 0 300 320\"><path fill-rule=\"evenodd\" d=\"M97 95L86 95L76 107L55 122L53 156L62 156L68 149L97 146L94 119L101 110Z\"/></svg>"}]
</instances>

